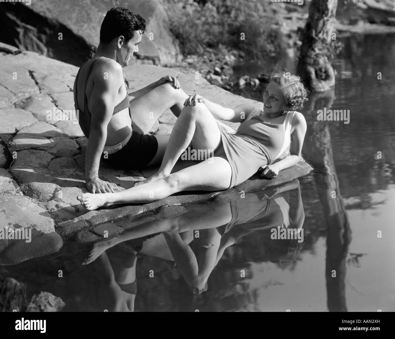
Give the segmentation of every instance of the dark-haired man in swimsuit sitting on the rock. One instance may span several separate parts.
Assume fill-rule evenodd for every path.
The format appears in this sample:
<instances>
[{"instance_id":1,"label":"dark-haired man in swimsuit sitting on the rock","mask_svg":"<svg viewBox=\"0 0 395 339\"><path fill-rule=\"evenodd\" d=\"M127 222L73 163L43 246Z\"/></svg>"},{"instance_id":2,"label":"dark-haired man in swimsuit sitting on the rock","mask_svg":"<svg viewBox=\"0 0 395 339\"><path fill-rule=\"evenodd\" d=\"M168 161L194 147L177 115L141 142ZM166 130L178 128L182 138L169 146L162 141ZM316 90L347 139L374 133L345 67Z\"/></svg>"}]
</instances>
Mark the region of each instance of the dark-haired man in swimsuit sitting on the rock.
<instances>
[{"instance_id":1,"label":"dark-haired man in swimsuit sitting on the rock","mask_svg":"<svg viewBox=\"0 0 395 339\"><path fill-rule=\"evenodd\" d=\"M128 95L122 67L139 51L145 20L126 8L110 9L100 44L75 79L74 104L88 138L85 180L91 193L112 192L98 176L100 159L111 167L141 169L160 163L169 135L144 134L167 109L179 116L188 95L167 76Z\"/></svg>"}]
</instances>

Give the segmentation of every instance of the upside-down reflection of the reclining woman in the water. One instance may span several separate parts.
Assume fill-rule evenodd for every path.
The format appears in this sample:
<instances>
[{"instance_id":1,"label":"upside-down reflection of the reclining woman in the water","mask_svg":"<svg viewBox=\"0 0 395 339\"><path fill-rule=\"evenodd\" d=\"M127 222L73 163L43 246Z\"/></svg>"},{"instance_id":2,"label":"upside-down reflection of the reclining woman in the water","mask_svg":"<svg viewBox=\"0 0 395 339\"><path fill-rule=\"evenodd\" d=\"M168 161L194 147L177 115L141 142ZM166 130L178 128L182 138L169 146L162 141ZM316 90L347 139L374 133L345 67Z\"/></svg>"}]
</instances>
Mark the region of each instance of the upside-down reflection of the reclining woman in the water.
<instances>
[{"instance_id":1,"label":"upside-down reflection of the reclining woman in the water","mask_svg":"<svg viewBox=\"0 0 395 339\"><path fill-rule=\"evenodd\" d=\"M290 199L279 194L295 189ZM268 199L271 195L271 199ZM223 199L226 199L224 196ZM295 210L295 211L293 211ZM207 280L227 247L258 229L271 227L296 227L303 225L304 212L299 181L282 184L261 193L246 193L245 198L230 202L210 202L192 205L190 212L167 220L154 220L122 232L119 237L94 245L87 263L100 257L107 248L125 241L135 246L141 242L141 252L174 260L182 277L194 293L207 290ZM196 232L199 231L199 232ZM153 236L154 233L162 232ZM141 238L143 237L143 238ZM193 241L192 241L193 239ZM192 241L192 247L189 242ZM167 243L167 249L164 244Z\"/></svg>"}]
</instances>

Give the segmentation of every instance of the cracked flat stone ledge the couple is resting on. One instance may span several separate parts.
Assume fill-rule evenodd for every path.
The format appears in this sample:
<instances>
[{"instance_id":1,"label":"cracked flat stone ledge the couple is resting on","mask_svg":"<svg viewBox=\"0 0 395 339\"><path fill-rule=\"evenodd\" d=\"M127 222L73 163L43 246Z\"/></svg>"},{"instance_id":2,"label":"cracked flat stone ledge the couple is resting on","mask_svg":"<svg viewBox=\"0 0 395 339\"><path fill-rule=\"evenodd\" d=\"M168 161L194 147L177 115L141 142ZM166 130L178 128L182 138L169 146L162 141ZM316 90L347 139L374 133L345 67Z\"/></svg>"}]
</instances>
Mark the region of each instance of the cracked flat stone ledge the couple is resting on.
<instances>
[{"instance_id":1,"label":"cracked flat stone ledge the couple is resting on","mask_svg":"<svg viewBox=\"0 0 395 339\"><path fill-rule=\"evenodd\" d=\"M87 139L78 123L47 120L47 110L74 109L72 87L78 68L4 44L0 51L0 227L33 229L33 240L28 245L21 241L0 240L0 264L56 252L62 246L62 239L98 241L103 239L103 229L108 230L110 236L117 235L132 227L134 220L143 220L143 216L168 218L184 213L181 205L186 203L277 185L312 170L300 161L280 172L275 180L253 177L227 191L182 193L145 205L89 212L76 199L78 194L87 192L84 181ZM132 66L124 68L129 89L139 89L162 76L177 75L176 72L180 73L153 65L139 65L138 73ZM224 106L233 107L243 102L259 104L204 79L196 80L193 74L182 73L179 79L186 93L196 90ZM167 111L150 133L171 133L175 120ZM227 125L236 129L238 124ZM179 162L174 170L193 163ZM122 190L147 178L153 170L116 171L101 167L99 176ZM113 222L122 218L123 222Z\"/></svg>"}]
</instances>

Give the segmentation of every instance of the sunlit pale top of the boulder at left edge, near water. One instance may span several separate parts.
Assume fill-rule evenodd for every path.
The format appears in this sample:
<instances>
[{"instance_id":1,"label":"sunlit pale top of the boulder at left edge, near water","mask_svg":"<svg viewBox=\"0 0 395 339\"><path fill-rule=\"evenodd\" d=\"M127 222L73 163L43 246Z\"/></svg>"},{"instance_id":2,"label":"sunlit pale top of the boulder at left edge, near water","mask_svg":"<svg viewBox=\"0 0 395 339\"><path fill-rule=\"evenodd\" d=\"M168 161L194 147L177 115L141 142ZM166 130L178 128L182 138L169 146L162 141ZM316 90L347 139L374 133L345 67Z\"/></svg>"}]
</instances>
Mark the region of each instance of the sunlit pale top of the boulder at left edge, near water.
<instances>
[{"instance_id":1,"label":"sunlit pale top of the boulder at left edge, near water","mask_svg":"<svg viewBox=\"0 0 395 339\"><path fill-rule=\"evenodd\" d=\"M0 228L31 228L55 232L49 213L27 197L0 194Z\"/></svg>"}]
</instances>

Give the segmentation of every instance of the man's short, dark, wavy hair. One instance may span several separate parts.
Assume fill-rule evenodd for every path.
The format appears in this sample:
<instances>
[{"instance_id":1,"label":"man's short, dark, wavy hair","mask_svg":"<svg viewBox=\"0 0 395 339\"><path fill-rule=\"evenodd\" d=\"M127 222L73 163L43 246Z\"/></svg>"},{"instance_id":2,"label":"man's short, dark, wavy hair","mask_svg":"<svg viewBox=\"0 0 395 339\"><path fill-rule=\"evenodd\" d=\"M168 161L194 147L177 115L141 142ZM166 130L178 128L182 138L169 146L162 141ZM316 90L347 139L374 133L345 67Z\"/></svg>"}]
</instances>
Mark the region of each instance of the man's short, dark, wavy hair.
<instances>
[{"instance_id":1,"label":"man's short, dark, wavy hair","mask_svg":"<svg viewBox=\"0 0 395 339\"><path fill-rule=\"evenodd\" d=\"M133 38L134 32L145 30L145 20L130 9L111 8L105 15L100 27L100 42L108 44L117 36L123 35L128 42Z\"/></svg>"}]
</instances>

